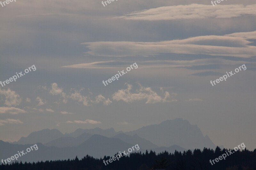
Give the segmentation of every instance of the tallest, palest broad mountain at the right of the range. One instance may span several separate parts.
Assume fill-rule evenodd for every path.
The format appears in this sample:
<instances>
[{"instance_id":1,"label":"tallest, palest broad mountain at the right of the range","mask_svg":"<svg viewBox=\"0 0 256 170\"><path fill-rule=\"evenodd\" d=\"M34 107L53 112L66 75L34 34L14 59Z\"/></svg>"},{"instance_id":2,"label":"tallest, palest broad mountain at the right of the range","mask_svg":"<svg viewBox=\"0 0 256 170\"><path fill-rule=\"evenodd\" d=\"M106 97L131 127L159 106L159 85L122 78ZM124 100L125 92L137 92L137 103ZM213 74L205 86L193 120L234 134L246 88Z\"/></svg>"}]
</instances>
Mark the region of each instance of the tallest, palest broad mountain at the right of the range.
<instances>
[{"instance_id":1,"label":"tallest, palest broad mountain at the right of the range","mask_svg":"<svg viewBox=\"0 0 256 170\"><path fill-rule=\"evenodd\" d=\"M169 147L176 144L188 149L204 147L215 149L216 147L208 136L204 137L197 125L191 125L183 119L166 120L160 124L145 126L125 134L137 134L158 146Z\"/></svg>"}]
</instances>

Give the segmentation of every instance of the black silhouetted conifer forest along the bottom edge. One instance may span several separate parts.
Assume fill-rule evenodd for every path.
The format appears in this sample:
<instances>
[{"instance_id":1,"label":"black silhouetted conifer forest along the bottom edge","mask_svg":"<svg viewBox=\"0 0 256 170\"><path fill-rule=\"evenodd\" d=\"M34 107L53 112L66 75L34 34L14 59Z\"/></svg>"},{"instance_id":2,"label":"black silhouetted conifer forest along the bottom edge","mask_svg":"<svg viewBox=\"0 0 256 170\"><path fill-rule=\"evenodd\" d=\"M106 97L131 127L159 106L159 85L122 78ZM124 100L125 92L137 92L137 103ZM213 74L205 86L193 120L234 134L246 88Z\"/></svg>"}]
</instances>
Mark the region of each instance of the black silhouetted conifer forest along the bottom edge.
<instances>
[{"instance_id":1,"label":"black silhouetted conifer forest along the bottom edge","mask_svg":"<svg viewBox=\"0 0 256 170\"><path fill-rule=\"evenodd\" d=\"M210 159L215 159L226 153L234 152L225 160L220 160L211 165ZM249 151L246 148L242 151L233 149L215 150L204 148L188 150L183 153L175 151L174 153L161 152L156 154L153 151L145 153L134 152L129 156L123 156L119 161L113 161L105 166L103 160L110 159L110 156L96 159L89 155L84 156L81 160L77 157L68 160L41 161L33 163L13 162L11 165L1 165L1 170L255 170L256 169L256 149Z\"/></svg>"}]
</instances>

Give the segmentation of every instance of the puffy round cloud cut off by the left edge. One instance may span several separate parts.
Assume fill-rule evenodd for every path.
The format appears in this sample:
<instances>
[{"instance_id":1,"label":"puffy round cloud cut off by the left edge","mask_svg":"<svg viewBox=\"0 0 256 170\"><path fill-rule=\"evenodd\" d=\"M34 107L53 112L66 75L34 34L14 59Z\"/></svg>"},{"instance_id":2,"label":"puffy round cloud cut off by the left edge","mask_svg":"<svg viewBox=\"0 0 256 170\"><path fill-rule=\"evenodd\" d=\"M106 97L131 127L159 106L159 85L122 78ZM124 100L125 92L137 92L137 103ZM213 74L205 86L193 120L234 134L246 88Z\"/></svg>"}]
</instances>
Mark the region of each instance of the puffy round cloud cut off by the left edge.
<instances>
[{"instance_id":1,"label":"puffy round cloud cut off by the left edge","mask_svg":"<svg viewBox=\"0 0 256 170\"><path fill-rule=\"evenodd\" d=\"M19 94L16 94L15 91L12 91L10 88L7 90L1 90L0 94L3 94L5 96L5 102L4 104L7 106L19 106L21 102L21 98Z\"/></svg>"}]
</instances>

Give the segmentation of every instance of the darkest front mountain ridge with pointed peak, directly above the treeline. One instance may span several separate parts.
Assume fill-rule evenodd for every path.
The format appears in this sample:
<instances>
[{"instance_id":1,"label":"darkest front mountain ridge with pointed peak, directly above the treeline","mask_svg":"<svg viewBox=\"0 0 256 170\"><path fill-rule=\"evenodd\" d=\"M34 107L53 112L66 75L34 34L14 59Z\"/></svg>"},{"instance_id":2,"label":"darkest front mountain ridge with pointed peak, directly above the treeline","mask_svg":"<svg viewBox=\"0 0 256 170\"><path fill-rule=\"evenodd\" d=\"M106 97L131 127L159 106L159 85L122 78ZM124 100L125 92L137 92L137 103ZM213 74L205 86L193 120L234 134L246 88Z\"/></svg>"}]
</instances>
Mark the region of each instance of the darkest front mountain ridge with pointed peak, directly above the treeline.
<instances>
[{"instance_id":1,"label":"darkest front mountain ridge with pointed peak, directly above the treeline","mask_svg":"<svg viewBox=\"0 0 256 170\"><path fill-rule=\"evenodd\" d=\"M11 158L18 151L24 151L30 148L34 144L10 144L0 140L0 158L7 159ZM81 159L87 154L94 158L100 158L106 156L114 156L119 152L128 152L128 149L134 146L128 144L117 138L108 138L101 135L92 135L87 141L83 142L77 147L55 147L55 146L44 146L41 143L37 143L38 149L30 151L29 153L18 158L18 162L37 162L46 160L58 160L58 159L74 159L76 156ZM135 148L134 148L135 149ZM145 150L138 150L133 152L145 152ZM14 161L15 162L15 161ZM10 164L10 163L9 163Z\"/></svg>"}]
</instances>

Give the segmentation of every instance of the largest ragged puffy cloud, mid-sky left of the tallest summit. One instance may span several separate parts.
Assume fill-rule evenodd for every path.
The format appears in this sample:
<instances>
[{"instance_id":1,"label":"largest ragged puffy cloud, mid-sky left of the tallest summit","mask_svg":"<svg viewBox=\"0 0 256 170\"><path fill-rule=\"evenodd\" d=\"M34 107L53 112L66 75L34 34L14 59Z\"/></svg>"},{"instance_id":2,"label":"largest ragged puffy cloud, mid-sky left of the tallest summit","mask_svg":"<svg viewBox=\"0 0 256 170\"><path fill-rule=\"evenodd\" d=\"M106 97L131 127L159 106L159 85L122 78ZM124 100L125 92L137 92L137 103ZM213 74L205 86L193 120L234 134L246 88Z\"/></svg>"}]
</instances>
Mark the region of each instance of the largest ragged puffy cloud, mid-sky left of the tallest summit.
<instances>
[{"instance_id":1,"label":"largest ragged puffy cloud, mid-sky left of the tallest summit","mask_svg":"<svg viewBox=\"0 0 256 170\"><path fill-rule=\"evenodd\" d=\"M143 87L136 90L137 93L130 92L132 85L127 84L127 89L118 90L113 94L113 100L119 101L123 100L126 103L132 103L134 101L147 100L146 104L149 103L159 103L159 102L172 102L177 101L172 99L169 92L164 92L164 97L162 98L156 92L154 92L150 87Z\"/></svg>"}]
</instances>

